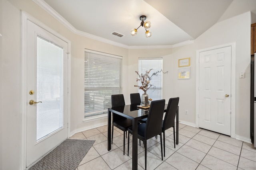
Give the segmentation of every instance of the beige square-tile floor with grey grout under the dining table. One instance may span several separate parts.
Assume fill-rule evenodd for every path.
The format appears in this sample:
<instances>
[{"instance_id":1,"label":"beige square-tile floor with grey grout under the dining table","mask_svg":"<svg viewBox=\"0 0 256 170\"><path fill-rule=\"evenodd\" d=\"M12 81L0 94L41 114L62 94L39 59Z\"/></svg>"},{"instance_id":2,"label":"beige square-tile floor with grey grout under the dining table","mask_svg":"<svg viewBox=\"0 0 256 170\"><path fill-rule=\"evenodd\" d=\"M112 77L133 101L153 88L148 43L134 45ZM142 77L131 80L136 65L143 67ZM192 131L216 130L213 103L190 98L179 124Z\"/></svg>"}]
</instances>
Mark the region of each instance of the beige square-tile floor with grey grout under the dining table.
<instances>
[{"instance_id":1,"label":"beige square-tile floor with grey grout under the dining table","mask_svg":"<svg viewBox=\"0 0 256 170\"><path fill-rule=\"evenodd\" d=\"M179 124L179 144L174 149L172 128L166 130L166 155L161 160L160 137L148 140L148 170L256 170L252 144L226 135ZM107 150L107 125L76 133L73 139L95 140L76 170L132 170L132 141L127 138L123 155L123 133L114 128L111 150ZM145 169L144 147L138 145L138 170Z\"/></svg>"}]
</instances>

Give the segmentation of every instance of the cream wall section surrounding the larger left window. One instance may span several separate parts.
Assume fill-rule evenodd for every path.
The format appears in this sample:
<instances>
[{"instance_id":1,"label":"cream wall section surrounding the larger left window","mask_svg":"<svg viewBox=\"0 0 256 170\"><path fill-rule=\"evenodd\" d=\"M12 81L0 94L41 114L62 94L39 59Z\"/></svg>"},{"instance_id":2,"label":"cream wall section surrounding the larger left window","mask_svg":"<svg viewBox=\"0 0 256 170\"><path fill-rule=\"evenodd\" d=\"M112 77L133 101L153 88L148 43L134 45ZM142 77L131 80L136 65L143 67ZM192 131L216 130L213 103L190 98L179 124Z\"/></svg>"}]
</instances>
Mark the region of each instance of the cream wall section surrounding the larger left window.
<instances>
[{"instance_id":1,"label":"cream wall section surrounding the larger left window","mask_svg":"<svg viewBox=\"0 0 256 170\"><path fill-rule=\"evenodd\" d=\"M128 49L115 47L88 39L85 37L76 36L75 40L72 40L72 58L71 58L71 132L81 131L88 129L88 127L101 125L107 122L107 119L102 119L95 122L84 123L84 48L104 53L110 53L123 57L123 89L124 95L126 95L128 88L128 80L125 77L128 76Z\"/></svg>"}]
</instances>

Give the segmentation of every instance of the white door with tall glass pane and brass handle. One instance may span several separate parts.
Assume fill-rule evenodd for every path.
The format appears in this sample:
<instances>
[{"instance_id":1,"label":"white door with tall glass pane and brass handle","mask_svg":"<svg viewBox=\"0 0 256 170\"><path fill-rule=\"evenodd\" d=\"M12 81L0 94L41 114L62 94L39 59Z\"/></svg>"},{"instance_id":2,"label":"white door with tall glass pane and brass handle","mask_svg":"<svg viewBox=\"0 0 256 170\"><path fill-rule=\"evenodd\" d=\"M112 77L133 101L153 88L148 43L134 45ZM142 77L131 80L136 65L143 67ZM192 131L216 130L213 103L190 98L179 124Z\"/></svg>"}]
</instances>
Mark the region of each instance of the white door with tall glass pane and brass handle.
<instances>
[{"instance_id":1,"label":"white door with tall glass pane and brass handle","mask_svg":"<svg viewBox=\"0 0 256 170\"><path fill-rule=\"evenodd\" d=\"M68 43L31 21L27 22L26 33L26 167L29 167L68 136Z\"/></svg>"}]
</instances>

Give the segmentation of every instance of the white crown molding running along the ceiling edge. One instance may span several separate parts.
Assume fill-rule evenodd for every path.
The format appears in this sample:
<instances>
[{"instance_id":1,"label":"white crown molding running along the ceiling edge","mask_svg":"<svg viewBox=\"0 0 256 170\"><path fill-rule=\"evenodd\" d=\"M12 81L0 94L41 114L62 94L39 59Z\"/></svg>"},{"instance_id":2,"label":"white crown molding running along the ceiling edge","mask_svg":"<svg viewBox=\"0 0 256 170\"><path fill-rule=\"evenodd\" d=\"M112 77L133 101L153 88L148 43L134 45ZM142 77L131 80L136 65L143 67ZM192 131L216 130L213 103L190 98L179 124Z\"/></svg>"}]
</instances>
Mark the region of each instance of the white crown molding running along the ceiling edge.
<instances>
[{"instance_id":1,"label":"white crown molding running along the ceiling edge","mask_svg":"<svg viewBox=\"0 0 256 170\"><path fill-rule=\"evenodd\" d=\"M46 2L44 2L44 0L33 0L36 4L38 4L38 6L40 6L42 9L44 9L46 12L48 12L51 16L53 16L56 20L58 20L60 23L62 23L65 27L67 27L68 29L70 29L70 31L72 31L73 33L77 34L77 35L81 35L83 37L87 37L90 39L94 39L96 41L101 41L103 43L107 43L110 45L115 45L118 47L122 47L122 48L126 48L126 49L172 49L172 48L176 48L176 47L180 47L183 45L188 45L191 43L194 43L194 40L188 40L188 41L184 41L181 43L177 43L174 45L148 45L148 46L128 46L128 45L124 45L122 43L117 43L115 41L111 41L102 37L98 37L96 35L92 35L89 33L85 33L83 31L79 31L77 30L75 27L73 27L73 25L71 25L67 20L65 20L65 18L63 18L58 12L56 12L52 7L50 7Z\"/></svg>"}]
</instances>

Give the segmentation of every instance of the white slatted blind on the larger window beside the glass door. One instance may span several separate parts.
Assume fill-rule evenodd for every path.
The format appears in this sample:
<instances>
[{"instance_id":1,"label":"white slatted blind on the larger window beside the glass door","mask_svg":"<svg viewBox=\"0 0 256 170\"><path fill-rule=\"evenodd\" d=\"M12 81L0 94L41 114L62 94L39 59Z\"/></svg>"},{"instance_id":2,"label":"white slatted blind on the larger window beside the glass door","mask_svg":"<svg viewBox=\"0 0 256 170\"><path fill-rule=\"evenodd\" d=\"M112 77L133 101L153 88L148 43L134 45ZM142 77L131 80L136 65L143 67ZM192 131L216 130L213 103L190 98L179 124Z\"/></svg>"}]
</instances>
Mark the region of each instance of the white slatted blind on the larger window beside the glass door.
<instances>
[{"instance_id":1,"label":"white slatted blind on the larger window beside the glass door","mask_svg":"<svg viewBox=\"0 0 256 170\"><path fill-rule=\"evenodd\" d=\"M122 57L86 50L84 116L108 112L111 95L122 93Z\"/></svg>"}]
</instances>

